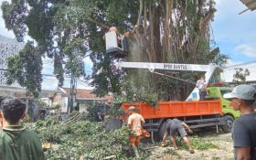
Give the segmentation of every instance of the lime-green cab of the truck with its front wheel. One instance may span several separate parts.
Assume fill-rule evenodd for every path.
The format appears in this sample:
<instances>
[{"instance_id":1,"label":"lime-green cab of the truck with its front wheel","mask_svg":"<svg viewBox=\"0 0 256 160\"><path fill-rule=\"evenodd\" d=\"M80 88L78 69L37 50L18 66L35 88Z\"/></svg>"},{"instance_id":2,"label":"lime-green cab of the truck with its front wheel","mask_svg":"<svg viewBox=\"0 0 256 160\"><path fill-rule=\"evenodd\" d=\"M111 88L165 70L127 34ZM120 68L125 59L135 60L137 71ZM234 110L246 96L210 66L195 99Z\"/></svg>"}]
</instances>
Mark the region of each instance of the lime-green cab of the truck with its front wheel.
<instances>
[{"instance_id":1,"label":"lime-green cab of the truck with its front wheel","mask_svg":"<svg viewBox=\"0 0 256 160\"><path fill-rule=\"evenodd\" d=\"M225 93L230 92L231 90L228 87L208 87L208 96L207 100L220 99L222 112L223 112L223 125L222 129L225 133L231 132L232 124L236 118L240 117L239 111L234 111L230 106L230 101L223 98Z\"/></svg>"}]
</instances>

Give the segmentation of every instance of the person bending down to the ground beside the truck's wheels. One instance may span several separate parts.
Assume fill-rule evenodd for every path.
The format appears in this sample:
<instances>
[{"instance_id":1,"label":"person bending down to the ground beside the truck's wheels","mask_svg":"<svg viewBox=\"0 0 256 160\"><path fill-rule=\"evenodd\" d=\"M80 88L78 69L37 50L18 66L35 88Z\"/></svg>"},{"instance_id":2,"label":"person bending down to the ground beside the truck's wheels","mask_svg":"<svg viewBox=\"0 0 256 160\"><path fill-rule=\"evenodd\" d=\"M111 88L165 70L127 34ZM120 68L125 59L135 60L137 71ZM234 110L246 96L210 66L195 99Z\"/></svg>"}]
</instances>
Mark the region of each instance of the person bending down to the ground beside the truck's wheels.
<instances>
[{"instance_id":1,"label":"person bending down to the ground beside the truck's wheels","mask_svg":"<svg viewBox=\"0 0 256 160\"><path fill-rule=\"evenodd\" d=\"M167 124L165 126L165 134L164 134L164 137L163 137L162 146L167 145L166 144L166 138L167 138L167 135L169 134L171 142L174 145L175 149L177 150L178 147L176 145L176 132L178 131L178 133L182 137L185 144L187 144L187 147L189 149L190 154L194 154L195 151L191 147L190 140L187 138L187 132L186 132L185 129L187 129L188 133L193 133L191 131L191 129L188 127L187 123L184 123L184 122L182 122L182 121L180 121L176 118L173 119L173 120L171 120L171 119L167 120Z\"/></svg>"}]
</instances>

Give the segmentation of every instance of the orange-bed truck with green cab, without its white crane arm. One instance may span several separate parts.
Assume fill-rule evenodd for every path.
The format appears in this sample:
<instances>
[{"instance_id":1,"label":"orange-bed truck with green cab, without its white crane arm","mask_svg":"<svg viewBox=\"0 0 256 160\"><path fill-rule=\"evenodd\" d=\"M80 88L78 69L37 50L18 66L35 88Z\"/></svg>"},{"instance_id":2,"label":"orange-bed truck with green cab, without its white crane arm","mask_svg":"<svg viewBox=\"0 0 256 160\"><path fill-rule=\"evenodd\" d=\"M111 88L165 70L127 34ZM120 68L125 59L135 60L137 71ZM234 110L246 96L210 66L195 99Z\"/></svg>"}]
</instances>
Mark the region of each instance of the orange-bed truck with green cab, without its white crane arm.
<instances>
[{"instance_id":1,"label":"orange-bed truck with green cab, without its white crane arm","mask_svg":"<svg viewBox=\"0 0 256 160\"><path fill-rule=\"evenodd\" d=\"M226 87L209 87L206 101L161 101L155 106L148 102L123 103L123 110L136 107L145 119L144 129L163 137L167 119L177 118L187 123L192 129L213 127L219 133L219 127L229 133L234 120L240 112L234 111L228 100L222 96L230 91ZM123 115L125 120L127 115Z\"/></svg>"}]
</instances>

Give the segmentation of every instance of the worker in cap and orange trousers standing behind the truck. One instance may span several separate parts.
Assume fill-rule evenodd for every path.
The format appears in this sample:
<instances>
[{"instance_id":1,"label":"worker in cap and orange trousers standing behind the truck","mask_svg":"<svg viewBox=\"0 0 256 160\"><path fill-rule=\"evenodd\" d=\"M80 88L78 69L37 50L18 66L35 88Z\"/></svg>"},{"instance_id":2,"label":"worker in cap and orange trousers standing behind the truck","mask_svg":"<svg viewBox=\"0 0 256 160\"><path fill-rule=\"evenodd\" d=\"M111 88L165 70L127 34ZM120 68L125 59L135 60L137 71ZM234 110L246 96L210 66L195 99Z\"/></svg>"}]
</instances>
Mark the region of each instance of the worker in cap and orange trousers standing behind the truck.
<instances>
[{"instance_id":1,"label":"worker in cap and orange trousers standing behind the truck","mask_svg":"<svg viewBox=\"0 0 256 160\"><path fill-rule=\"evenodd\" d=\"M130 106L128 109L128 127L132 130L130 135L130 143L133 147L133 152L136 158L140 157L138 146L141 142L141 135L143 134L144 118L141 114L135 112L135 107Z\"/></svg>"}]
</instances>

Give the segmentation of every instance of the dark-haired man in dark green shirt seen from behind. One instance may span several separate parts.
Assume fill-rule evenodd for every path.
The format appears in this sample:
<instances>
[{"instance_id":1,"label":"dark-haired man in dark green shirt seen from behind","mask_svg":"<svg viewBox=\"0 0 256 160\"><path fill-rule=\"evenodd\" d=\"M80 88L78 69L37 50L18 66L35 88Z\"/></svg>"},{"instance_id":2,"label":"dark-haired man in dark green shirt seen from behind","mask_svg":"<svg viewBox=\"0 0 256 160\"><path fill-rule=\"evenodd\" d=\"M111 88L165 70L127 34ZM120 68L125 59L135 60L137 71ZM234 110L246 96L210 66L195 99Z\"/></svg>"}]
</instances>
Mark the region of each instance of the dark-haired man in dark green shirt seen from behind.
<instances>
[{"instance_id":1,"label":"dark-haired man in dark green shirt seen from behind","mask_svg":"<svg viewBox=\"0 0 256 160\"><path fill-rule=\"evenodd\" d=\"M0 130L1 160L46 160L36 133L20 123L25 117L26 104L18 99L1 102L3 128Z\"/></svg>"}]
</instances>

